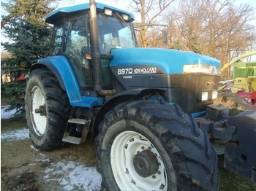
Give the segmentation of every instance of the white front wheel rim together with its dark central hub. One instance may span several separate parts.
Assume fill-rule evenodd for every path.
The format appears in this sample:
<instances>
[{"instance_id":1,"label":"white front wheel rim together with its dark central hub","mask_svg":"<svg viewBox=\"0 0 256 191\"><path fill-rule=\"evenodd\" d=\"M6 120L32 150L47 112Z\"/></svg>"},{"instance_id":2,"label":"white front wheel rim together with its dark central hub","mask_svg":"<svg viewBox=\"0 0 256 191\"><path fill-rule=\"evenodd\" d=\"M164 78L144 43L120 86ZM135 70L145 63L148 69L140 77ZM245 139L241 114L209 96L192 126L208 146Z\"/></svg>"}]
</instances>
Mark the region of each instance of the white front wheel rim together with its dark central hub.
<instances>
[{"instance_id":1,"label":"white front wheel rim together with its dark central hub","mask_svg":"<svg viewBox=\"0 0 256 191\"><path fill-rule=\"evenodd\" d=\"M143 190L159 190L168 186L167 168L156 147L133 130L116 136L110 151L110 163L118 187L125 188L129 182ZM124 158L125 162L121 161Z\"/></svg>"}]
</instances>

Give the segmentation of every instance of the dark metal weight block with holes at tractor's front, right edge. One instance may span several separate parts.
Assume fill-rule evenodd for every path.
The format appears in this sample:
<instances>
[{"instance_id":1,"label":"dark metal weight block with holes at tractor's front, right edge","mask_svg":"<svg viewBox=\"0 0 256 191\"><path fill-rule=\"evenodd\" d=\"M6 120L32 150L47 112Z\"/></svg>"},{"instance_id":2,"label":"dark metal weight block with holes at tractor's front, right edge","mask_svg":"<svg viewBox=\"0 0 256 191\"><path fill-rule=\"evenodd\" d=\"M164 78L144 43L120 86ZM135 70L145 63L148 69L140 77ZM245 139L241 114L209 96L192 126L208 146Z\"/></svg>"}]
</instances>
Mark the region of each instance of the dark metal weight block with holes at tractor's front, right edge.
<instances>
[{"instance_id":1,"label":"dark metal weight block with holes at tractor's front, right edge","mask_svg":"<svg viewBox=\"0 0 256 191\"><path fill-rule=\"evenodd\" d=\"M225 168L256 182L256 110L229 117L236 126L233 139L225 146Z\"/></svg>"}]
</instances>

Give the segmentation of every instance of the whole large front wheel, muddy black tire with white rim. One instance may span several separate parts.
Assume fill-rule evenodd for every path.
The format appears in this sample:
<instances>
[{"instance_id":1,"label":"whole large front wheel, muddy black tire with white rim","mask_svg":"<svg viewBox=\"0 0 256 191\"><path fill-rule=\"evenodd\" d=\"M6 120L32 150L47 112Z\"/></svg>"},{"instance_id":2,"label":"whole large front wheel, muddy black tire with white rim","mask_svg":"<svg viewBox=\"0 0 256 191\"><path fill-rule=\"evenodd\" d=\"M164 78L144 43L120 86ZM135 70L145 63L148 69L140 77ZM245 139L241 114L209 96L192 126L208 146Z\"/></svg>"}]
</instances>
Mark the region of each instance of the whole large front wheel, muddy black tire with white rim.
<instances>
[{"instance_id":1,"label":"whole large front wheel, muddy black tire with white rim","mask_svg":"<svg viewBox=\"0 0 256 191\"><path fill-rule=\"evenodd\" d=\"M218 190L217 155L179 106L120 104L105 115L96 142L106 190Z\"/></svg>"}]
</instances>

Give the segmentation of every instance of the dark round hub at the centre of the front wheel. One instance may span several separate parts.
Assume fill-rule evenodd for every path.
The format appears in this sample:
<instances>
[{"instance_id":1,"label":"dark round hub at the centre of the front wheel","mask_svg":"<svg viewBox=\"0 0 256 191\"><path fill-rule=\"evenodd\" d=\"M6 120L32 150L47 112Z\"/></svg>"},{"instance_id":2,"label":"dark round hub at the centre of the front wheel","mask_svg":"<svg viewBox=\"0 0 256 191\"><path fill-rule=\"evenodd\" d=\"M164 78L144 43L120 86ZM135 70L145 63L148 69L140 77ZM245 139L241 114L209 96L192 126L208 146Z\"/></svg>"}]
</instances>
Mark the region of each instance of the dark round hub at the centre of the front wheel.
<instances>
[{"instance_id":1,"label":"dark round hub at the centre of the front wheel","mask_svg":"<svg viewBox=\"0 0 256 191\"><path fill-rule=\"evenodd\" d=\"M135 171L143 178L146 178L157 173L159 164L153 152L143 150L133 157L133 165Z\"/></svg>"}]
</instances>

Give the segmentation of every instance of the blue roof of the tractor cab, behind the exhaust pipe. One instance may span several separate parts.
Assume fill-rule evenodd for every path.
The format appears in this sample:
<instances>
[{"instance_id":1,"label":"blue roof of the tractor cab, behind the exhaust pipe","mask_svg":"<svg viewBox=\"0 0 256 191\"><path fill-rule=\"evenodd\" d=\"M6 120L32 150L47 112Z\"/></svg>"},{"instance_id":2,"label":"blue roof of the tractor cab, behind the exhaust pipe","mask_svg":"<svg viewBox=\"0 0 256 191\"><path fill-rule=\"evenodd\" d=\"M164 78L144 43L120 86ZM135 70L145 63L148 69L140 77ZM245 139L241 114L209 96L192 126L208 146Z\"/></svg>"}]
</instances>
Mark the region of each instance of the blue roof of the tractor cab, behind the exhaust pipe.
<instances>
[{"instance_id":1,"label":"blue roof of the tractor cab, behind the exhaust pipe","mask_svg":"<svg viewBox=\"0 0 256 191\"><path fill-rule=\"evenodd\" d=\"M97 9L102 9L102 10L104 10L105 8L112 9L114 12L118 12L119 14L121 13L121 14L129 15L132 20L135 19L132 13L126 12L121 9L117 9L115 7L108 6L107 4L96 3L96 7ZM90 9L89 3L78 4L72 7L62 7L62 8L56 9L55 11L47 15L45 21L47 23L54 24L64 17L72 16L72 15L78 14L79 12L84 12L89 9Z\"/></svg>"}]
</instances>

